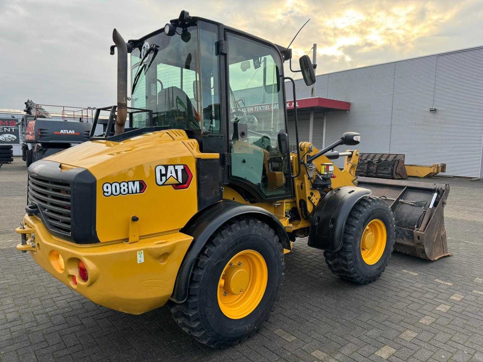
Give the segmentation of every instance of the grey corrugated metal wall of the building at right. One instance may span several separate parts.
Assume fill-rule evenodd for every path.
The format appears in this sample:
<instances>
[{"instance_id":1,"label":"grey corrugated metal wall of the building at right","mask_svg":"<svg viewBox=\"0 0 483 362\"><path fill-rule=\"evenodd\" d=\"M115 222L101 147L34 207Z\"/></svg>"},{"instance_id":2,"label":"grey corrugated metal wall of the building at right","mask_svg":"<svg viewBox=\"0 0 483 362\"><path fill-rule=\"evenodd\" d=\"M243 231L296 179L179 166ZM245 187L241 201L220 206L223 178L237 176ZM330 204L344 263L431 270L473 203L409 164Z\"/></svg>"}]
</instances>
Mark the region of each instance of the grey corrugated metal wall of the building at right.
<instances>
[{"instance_id":1,"label":"grey corrugated metal wall of the building at right","mask_svg":"<svg viewBox=\"0 0 483 362\"><path fill-rule=\"evenodd\" d=\"M291 84L285 89L292 99ZM310 96L301 79L296 90ZM483 176L483 46L319 75L315 95L351 102L349 112L327 112L326 145L355 131L363 152L405 153L408 164ZM316 126L323 122L314 122L314 134Z\"/></svg>"}]
</instances>

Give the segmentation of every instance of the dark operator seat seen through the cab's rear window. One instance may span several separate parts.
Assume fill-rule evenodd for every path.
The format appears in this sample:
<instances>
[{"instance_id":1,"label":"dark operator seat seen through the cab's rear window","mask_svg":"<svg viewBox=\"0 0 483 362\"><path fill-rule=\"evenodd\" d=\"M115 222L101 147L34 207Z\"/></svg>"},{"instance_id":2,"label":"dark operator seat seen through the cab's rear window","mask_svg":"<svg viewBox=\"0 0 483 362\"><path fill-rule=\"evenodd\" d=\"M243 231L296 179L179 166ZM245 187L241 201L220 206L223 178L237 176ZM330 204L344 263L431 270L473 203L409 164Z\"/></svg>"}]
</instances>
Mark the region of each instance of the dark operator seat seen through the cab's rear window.
<instances>
[{"instance_id":1,"label":"dark operator seat seen through the cab's rear window","mask_svg":"<svg viewBox=\"0 0 483 362\"><path fill-rule=\"evenodd\" d=\"M171 127L181 129L199 128L199 115L193 107L191 99L189 99L185 91L178 87L167 87L158 92L156 110L164 114L160 116L161 120ZM170 112L176 112L177 114L170 116ZM184 113L184 115L179 113Z\"/></svg>"}]
</instances>

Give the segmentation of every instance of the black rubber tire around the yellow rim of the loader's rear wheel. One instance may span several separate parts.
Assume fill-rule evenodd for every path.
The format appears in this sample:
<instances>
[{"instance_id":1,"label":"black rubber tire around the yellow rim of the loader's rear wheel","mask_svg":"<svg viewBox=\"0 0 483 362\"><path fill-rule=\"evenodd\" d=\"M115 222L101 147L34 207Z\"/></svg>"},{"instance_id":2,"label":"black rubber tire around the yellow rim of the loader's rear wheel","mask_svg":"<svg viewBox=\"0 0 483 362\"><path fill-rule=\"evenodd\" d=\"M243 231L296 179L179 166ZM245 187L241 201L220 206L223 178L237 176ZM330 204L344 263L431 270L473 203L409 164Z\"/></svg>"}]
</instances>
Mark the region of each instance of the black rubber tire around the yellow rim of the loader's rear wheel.
<instances>
[{"instance_id":1,"label":"black rubber tire around the yellow rim of the loader's rear wheel","mask_svg":"<svg viewBox=\"0 0 483 362\"><path fill-rule=\"evenodd\" d=\"M243 250L255 250L263 256L268 282L255 310L241 319L231 319L218 306L218 280L229 260ZM254 218L234 218L219 227L199 253L185 303L169 302L173 318L186 333L207 346L233 346L255 334L269 318L278 300L283 270L284 253L274 231Z\"/></svg>"}]
</instances>

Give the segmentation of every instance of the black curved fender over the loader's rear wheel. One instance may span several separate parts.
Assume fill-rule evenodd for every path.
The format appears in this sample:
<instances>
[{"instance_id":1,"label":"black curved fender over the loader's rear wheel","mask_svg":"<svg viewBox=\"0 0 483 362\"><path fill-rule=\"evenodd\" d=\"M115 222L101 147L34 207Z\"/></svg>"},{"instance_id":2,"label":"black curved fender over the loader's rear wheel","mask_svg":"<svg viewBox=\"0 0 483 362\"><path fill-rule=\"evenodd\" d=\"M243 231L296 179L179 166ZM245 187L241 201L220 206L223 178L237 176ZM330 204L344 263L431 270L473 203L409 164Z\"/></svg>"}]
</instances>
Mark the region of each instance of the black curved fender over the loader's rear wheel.
<instances>
[{"instance_id":1,"label":"black curved fender over the loader's rear wheel","mask_svg":"<svg viewBox=\"0 0 483 362\"><path fill-rule=\"evenodd\" d=\"M188 297L188 285L191 272L196 262L198 254L203 249L206 241L221 225L236 216L250 216L261 222L267 223L277 234L285 249L291 250L290 240L285 232L285 228L269 211L254 205L240 204L234 201L220 201L201 210L186 226L181 230L182 233L193 237L193 241L185 254L185 258L174 283L173 295L171 300L176 303L185 302Z\"/></svg>"}]
</instances>

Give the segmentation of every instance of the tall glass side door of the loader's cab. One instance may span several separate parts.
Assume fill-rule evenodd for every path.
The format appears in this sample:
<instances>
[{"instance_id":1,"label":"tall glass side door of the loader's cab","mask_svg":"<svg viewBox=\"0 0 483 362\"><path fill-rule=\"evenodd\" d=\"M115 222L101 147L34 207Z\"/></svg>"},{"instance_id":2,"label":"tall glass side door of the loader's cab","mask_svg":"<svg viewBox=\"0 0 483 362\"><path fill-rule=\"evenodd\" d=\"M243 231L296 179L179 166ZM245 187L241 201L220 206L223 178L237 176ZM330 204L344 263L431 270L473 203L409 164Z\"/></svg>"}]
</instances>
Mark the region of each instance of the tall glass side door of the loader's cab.
<instances>
[{"instance_id":1,"label":"tall glass side door of the loader's cab","mask_svg":"<svg viewBox=\"0 0 483 362\"><path fill-rule=\"evenodd\" d=\"M227 32L230 181L262 201L290 197L282 60L270 44ZM283 137L282 137L283 138Z\"/></svg>"}]
</instances>

